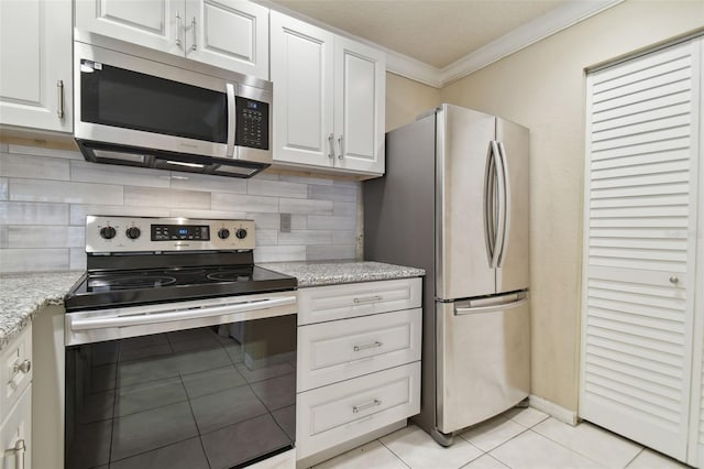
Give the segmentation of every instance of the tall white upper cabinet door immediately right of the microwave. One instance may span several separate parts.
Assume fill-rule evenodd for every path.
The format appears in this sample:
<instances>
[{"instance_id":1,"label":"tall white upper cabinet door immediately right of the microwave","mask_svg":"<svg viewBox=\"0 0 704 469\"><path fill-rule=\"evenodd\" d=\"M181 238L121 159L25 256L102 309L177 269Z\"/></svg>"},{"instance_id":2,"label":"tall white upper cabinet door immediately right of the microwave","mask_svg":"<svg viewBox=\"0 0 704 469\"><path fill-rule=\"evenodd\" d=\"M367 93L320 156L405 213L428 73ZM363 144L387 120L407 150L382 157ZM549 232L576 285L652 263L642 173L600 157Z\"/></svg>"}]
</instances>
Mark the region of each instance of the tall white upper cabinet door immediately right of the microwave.
<instances>
[{"instance_id":1,"label":"tall white upper cabinet door immediately right of the microwave","mask_svg":"<svg viewBox=\"0 0 704 469\"><path fill-rule=\"evenodd\" d=\"M271 29L274 161L331 167L334 35L275 11Z\"/></svg>"}]
</instances>

